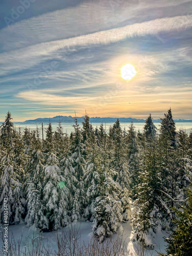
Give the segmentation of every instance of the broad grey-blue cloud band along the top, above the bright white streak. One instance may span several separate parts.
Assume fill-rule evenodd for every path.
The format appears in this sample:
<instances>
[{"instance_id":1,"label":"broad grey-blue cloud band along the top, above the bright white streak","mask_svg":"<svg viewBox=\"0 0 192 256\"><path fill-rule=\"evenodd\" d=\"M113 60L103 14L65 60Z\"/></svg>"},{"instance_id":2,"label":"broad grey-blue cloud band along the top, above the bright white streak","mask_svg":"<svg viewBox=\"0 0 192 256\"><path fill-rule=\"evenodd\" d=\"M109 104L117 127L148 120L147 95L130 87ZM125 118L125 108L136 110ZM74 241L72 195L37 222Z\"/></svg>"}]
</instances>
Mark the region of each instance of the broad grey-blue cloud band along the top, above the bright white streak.
<instances>
[{"instance_id":1,"label":"broad grey-blue cloud band along the top, above the bright white streak","mask_svg":"<svg viewBox=\"0 0 192 256\"><path fill-rule=\"evenodd\" d=\"M188 0L176 1L90 1L75 7L48 12L37 17L13 23L0 31L3 51L27 47L41 42L70 38L100 30L161 18L158 8L172 8L169 15L181 13L178 5ZM155 12L152 10L155 8ZM147 10L147 11L146 11ZM150 10L150 11L149 11Z\"/></svg>"}]
</instances>

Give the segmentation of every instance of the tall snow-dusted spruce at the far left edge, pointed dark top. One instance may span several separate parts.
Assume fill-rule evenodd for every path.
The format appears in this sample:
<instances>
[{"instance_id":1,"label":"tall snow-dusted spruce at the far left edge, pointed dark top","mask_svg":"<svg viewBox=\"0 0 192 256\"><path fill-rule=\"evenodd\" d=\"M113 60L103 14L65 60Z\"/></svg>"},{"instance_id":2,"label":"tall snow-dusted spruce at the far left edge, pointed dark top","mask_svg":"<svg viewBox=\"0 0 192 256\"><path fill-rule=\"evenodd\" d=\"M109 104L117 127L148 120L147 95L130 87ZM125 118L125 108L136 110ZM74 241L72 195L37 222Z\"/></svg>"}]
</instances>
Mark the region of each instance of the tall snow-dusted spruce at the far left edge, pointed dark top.
<instances>
[{"instance_id":1,"label":"tall snow-dusted spruce at the far left edge, pointed dark top","mask_svg":"<svg viewBox=\"0 0 192 256\"><path fill-rule=\"evenodd\" d=\"M14 161L14 125L8 112L1 128L1 141L4 147L4 156L1 159L0 179L0 209L1 222L4 219L4 199L8 200L8 223L18 224L25 215L25 195L22 183L19 182L20 169Z\"/></svg>"}]
</instances>

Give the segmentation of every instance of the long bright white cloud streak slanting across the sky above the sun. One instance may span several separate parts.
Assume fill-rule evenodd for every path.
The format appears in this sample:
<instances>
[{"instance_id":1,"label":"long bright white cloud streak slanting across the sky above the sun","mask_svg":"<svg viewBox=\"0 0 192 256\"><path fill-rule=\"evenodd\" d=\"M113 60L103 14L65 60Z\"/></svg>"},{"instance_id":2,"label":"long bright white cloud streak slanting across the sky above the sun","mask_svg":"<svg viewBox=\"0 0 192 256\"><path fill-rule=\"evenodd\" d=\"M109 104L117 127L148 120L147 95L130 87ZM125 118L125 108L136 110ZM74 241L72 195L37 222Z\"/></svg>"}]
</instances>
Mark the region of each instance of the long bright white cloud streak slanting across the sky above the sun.
<instances>
[{"instance_id":1,"label":"long bright white cloud streak slanting across the sky above the sun","mask_svg":"<svg viewBox=\"0 0 192 256\"><path fill-rule=\"evenodd\" d=\"M18 72L33 67L41 61L56 57L55 52L62 50L62 55L70 54L78 47L108 45L126 38L136 36L158 35L160 32L180 31L192 27L192 15L176 16L136 23L122 28L99 31L93 34L73 38L44 42L21 50L0 54L2 75ZM19 65L18 65L19 63Z\"/></svg>"}]
</instances>

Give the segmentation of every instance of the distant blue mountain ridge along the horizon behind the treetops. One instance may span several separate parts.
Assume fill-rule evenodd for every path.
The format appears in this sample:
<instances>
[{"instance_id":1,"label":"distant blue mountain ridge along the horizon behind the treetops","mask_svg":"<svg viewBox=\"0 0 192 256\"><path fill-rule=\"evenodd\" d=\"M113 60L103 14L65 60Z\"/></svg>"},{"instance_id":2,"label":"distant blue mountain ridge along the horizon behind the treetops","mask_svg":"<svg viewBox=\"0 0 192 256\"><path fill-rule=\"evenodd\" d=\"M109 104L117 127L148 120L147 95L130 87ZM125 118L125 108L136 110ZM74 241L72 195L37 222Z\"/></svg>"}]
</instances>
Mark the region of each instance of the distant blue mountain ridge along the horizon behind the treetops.
<instances>
[{"instance_id":1,"label":"distant blue mountain ridge along the horizon behind the treetops","mask_svg":"<svg viewBox=\"0 0 192 256\"><path fill-rule=\"evenodd\" d=\"M34 120L26 120L24 123L30 123L30 122L43 122L43 123L48 123L49 120L51 122L64 122L64 123L71 123L74 122L74 117L72 116L55 116L51 118L36 118ZM117 120L117 117L90 117L90 122L93 123L110 123L110 122L115 122ZM83 121L83 116L82 117L77 117L78 122ZM119 117L120 122L135 122L135 123L144 123L145 119L137 119L137 118L131 118L131 117ZM160 119L153 119L155 123L160 122ZM175 119L175 122L192 122L192 120L188 119Z\"/></svg>"}]
</instances>

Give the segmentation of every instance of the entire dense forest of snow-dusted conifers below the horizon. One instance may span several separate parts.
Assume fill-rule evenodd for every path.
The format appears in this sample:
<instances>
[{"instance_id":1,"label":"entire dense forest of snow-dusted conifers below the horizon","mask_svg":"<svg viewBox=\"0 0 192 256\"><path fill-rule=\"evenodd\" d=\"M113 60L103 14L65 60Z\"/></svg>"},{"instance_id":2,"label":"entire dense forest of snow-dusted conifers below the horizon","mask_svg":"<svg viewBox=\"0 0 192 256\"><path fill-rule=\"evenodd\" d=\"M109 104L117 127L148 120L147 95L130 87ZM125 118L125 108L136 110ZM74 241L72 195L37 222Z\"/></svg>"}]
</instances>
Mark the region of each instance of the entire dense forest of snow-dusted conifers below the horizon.
<instances>
[{"instance_id":1,"label":"entire dense forest of snow-dusted conifers below the horizon","mask_svg":"<svg viewBox=\"0 0 192 256\"><path fill-rule=\"evenodd\" d=\"M57 230L73 221L93 222L100 242L129 221L134 241L153 248L157 230L170 234L167 254L190 255L192 248L192 133L176 131L172 110L157 130L151 114L143 132L119 120L105 131L93 128L89 116L82 128L54 132L44 140L38 128L16 131L8 112L0 138L0 219L8 198L10 225L25 221L41 231ZM182 252L181 254L179 252Z\"/></svg>"}]
</instances>

